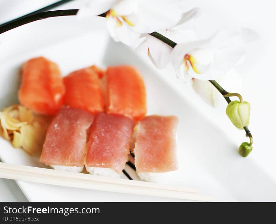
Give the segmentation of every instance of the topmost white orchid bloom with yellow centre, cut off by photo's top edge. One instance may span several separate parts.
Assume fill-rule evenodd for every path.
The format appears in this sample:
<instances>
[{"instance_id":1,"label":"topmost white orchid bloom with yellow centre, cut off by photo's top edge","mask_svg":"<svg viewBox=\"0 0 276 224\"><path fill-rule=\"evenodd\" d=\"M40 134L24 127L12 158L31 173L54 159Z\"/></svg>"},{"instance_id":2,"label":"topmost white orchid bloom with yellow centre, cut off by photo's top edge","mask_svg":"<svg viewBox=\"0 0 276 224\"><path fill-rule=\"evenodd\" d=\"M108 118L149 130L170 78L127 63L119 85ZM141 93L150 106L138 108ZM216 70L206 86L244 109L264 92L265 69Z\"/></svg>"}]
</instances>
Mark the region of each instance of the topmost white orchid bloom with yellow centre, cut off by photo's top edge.
<instances>
[{"instance_id":1,"label":"topmost white orchid bloom with yellow centre, cut off by photo's top edge","mask_svg":"<svg viewBox=\"0 0 276 224\"><path fill-rule=\"evenodd\" d=\"M115 41L131 45L141 34L166 29L181 19L181 0L92 0L81 17L106 13L106 25Z\"/></svg>"}]
</instances>

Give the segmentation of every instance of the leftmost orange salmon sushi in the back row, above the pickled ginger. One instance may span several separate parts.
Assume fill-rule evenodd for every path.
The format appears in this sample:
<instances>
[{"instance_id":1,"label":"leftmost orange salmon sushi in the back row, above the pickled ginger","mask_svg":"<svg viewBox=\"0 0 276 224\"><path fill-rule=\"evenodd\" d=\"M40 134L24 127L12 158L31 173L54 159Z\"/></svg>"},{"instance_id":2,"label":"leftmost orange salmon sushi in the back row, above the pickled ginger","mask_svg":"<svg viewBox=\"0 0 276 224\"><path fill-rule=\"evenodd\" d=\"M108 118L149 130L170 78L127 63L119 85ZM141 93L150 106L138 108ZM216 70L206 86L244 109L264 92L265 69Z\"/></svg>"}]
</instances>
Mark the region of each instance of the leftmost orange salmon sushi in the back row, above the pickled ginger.
<instances>
[{"instance_id":1,"label":"leftmost orange salmon sushi in the back row, above the pickled ginger","mask_svg":"<svg viewBox=\"0 0 276 224\"><path fill-rule=\"evenodd\" d=\"M20 103L40 114L56 114L65 93L58 65L44 57L33 58L23 64L21 74Z\"/></svg>"}]
</instances>

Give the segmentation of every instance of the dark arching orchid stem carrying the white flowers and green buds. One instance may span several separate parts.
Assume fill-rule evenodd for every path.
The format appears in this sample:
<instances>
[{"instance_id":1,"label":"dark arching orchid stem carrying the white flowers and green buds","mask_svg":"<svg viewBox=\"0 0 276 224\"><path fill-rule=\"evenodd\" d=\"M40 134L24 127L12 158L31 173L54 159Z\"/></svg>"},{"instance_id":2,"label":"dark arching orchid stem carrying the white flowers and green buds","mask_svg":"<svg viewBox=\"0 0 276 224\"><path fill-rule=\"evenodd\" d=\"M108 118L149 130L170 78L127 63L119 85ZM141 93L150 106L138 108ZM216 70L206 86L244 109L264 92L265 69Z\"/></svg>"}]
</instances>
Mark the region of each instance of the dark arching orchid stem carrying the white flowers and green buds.
<instances>
[{"instance_id":1,"label":"dark arching orchid stem carrying the white flowers and green buds","mask_svg":"<svg viewBox=\"0 0 276 224\"><path fill-rule=\"evenodd\" d=\"M64 3L65 2L66 1L64 1ZM40 12L42 9L36 11L36 12L39 12L39 13L35 13L35 12L30 13L28 15L25 15L23 17L20 17L18 19L15 19L13 21L8 22L8 23L1 24L0 25L0 34L6 32L8 30L11 30L13 28L16 28L16 27L22 26L24 24L40 20L40 19L45 19L45 18L50 18L50 17L58 17L58 16L74 16L78 12L78 9L65 9L65 10ZM99 17L105 17L106 13L102 13L98 16ZM167 37L165 37L162 34L159 34L157 32L153 32L149 35L161 40L162 42L164 42L165 44L168 44L172 48L174 48L177 45L177 43L175 43L174 41L168 39ZM209 81L221 93L221 95L225 98L227 103L231 102L231 100L228 96L238 96L240 101L242 102L242 98L241 98L240 94L238 94L238 93L229 93L225 89L223 89L215 80L209 80ZM229 94L231 94L231 95L229 95ZM233 95L233 94L235 94L235 95ZM243 129L245 130L247 137L250 138L250 145L252 145L252 143L253 143L252 134L250 133L247 126L245 126Z\"/></svg>"}]
</instances>

